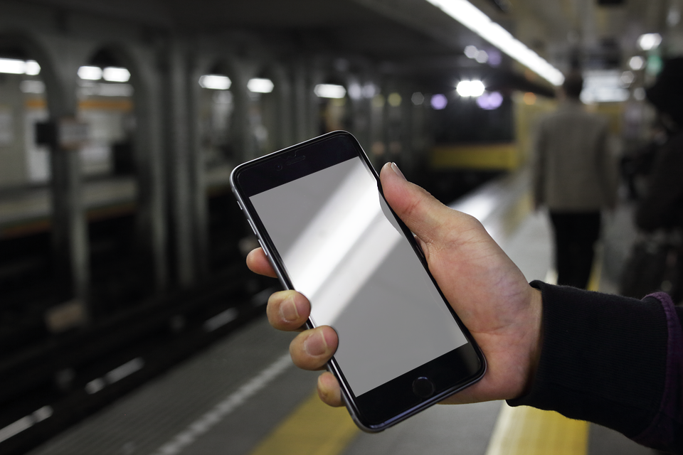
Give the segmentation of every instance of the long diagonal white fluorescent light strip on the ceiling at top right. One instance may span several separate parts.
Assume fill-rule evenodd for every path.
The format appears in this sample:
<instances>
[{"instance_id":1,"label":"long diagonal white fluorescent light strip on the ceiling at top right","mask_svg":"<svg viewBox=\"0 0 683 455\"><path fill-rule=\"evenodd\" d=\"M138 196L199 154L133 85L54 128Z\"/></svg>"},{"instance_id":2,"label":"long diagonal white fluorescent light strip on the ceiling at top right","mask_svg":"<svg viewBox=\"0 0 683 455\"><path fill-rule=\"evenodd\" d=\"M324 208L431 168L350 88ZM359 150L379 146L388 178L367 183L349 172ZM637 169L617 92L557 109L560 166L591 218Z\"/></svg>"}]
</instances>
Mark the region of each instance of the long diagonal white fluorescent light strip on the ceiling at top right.
<instances>
[{"instance_id":1,"label":"long diagonal white fluorescent light strip on the ceiling at top right","mask_svg":"<svg viewBox=\"0 0 683 455\"><path fill-rule=\"evenodd\" d=\"M442 9L446 14L470 28L477 35L502 50L510 57L526 66L534 73L540 75L553 85L562 85L564 76L553 65L546 62L533 50L529 49L514 38L509 31L498 23L492 21L489 16L482 13L467 0L427 0L430 4Z\"/></svg>"}]
</instances>

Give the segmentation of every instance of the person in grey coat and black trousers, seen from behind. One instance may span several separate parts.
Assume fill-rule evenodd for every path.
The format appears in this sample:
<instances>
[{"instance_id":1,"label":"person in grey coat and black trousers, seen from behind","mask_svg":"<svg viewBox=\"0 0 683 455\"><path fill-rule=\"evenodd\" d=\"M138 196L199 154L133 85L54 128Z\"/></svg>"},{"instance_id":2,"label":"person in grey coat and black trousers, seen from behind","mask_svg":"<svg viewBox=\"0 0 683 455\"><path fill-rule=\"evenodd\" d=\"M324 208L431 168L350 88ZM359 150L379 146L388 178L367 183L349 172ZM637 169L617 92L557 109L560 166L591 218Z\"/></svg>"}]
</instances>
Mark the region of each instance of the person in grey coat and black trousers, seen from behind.
<instances>
[{"instance_id":1,"label":"person in grey coat and black trousers, seen from behind","mask_svg":"<svg viewBox=\"0 0 683 455\"><path fill-rule=\"evenodd\" d=\"M586 289L600 235L600 212L615 205L615 163L607 119L583 109L583 77L571 74L556 112L539 122L534 143L534 203L546 206L555 237L558 284Z\"/></svg>"}]
</instances>

